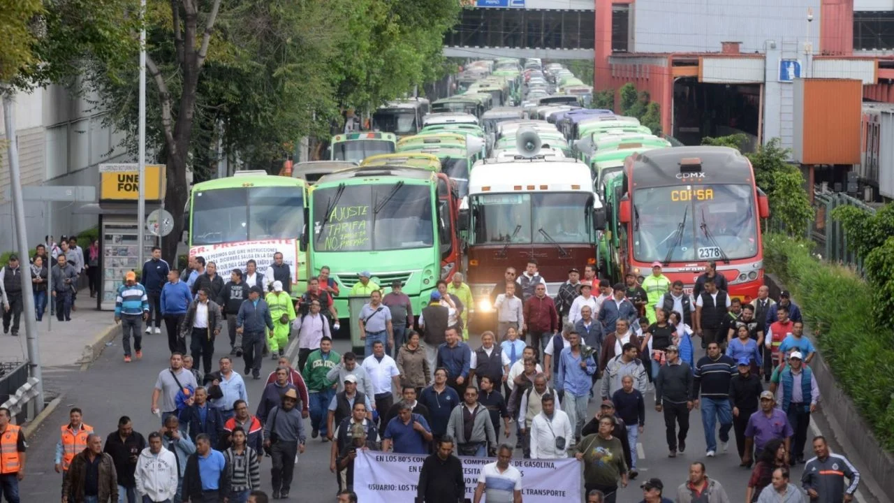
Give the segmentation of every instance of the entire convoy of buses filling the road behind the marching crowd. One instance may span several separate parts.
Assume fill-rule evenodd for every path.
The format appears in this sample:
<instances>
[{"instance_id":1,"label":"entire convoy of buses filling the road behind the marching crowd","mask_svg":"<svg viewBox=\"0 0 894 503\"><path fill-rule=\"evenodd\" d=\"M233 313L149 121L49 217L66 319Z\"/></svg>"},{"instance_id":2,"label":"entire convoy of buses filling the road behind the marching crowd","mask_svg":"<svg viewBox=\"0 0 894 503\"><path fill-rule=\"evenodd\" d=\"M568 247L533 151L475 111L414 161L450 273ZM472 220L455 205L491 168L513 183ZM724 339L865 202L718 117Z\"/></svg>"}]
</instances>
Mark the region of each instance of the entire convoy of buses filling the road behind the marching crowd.
<instances>
[{"instance_id":1,"label":"entire convoy of buses filling the road behind the marching crowd","mask_svg":"<svg viewBox=\"0 0 894 503\"><path fill-rule=\"evenodd\" d=\"M527 68L539 66L532 61ZM389 104L373 115L374 131L333 137L329 160L299 163L291 176L197 183L190 246L297 239L293 296L328 267L343 316L362 270L385 289L401 281L418 311L439 279L462 271L469 307L485 320L503 271L532 259L552 295L587 264L617 281L628 272L642 280L660 262L691 287L716 260L730 294L754 298L769 207L748 160L733 149L672 148L636 118L567 94L509 107L525 95L526 67L472 64L477 79L460 80L464 94Z\"/></svg>"}]
</instances>

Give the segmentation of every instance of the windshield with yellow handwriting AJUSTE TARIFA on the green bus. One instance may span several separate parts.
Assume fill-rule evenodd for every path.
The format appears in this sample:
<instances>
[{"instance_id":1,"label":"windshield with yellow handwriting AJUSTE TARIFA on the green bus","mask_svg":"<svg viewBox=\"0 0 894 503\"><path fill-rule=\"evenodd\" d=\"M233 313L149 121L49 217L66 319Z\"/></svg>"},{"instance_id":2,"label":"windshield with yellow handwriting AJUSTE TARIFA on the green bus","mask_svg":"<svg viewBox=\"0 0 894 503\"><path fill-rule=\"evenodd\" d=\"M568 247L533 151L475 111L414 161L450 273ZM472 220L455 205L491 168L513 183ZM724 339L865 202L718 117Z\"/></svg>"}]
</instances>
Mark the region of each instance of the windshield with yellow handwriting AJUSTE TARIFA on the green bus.
<instances>
[{"instance_id":1,"label":"windshield with yellow handwriting AJUSTE TARIFA on the green bus","mask_svg":"<svg viewBox=\"0 0 894 503\"><path fill-rule=\"evenodd\" d=\"M429 185L377 183L314 191L314 250L370 252L434 245Z\"/></svg>"}]
</instances>

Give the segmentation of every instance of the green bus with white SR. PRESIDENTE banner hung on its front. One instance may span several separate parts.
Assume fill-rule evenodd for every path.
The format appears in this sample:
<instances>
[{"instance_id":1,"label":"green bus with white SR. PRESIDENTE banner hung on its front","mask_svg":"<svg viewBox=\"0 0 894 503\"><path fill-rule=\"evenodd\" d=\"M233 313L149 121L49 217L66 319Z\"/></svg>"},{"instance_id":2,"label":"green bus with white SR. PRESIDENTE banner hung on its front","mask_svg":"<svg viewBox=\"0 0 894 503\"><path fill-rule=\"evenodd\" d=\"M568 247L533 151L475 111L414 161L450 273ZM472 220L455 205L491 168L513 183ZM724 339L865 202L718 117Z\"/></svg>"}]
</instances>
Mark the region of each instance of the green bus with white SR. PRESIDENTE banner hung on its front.
<instances>
[{"instance_id":1,"label":"green bus with white SR. PRESIDENTE banner hung on its front","mask_svg":"<svg viewBox=\"0 0 894 503\"><path fill-rule=\"evenodd\" d=\"M291 295L307 290L308 183L301 178L242 171L196 183L190 192L190 257L215 261L217 274L245 270L249 259L264 272L283 253L292 274Z\"/></svg>"}]
</instances>

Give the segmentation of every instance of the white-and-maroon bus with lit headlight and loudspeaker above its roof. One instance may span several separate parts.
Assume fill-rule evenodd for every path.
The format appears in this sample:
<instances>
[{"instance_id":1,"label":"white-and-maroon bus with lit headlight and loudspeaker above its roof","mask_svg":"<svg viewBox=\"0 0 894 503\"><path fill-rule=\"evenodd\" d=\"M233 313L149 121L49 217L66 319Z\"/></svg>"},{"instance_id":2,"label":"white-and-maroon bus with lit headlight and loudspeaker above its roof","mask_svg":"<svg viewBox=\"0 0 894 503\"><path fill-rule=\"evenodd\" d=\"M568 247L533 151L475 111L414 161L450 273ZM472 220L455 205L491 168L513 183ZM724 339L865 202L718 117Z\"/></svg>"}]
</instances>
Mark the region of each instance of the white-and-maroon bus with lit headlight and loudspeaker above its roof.
<instances>
[{"instance_id":1,"label":"white-and-maroon bus with lit headlight and loudspeaker above its roof","mask_svg":"<svg viewBox=\"0 0 894 503\"><path fill-rule=\"evenodd\" d=\"M467 206L467 276L477 320L493 317L491 290L508 267L521 271L527 260L537 260L554 296L569 269L596 263L605 214L581 162L544 156L485 161L469 175Z\"/></svg>"}]
</instances>

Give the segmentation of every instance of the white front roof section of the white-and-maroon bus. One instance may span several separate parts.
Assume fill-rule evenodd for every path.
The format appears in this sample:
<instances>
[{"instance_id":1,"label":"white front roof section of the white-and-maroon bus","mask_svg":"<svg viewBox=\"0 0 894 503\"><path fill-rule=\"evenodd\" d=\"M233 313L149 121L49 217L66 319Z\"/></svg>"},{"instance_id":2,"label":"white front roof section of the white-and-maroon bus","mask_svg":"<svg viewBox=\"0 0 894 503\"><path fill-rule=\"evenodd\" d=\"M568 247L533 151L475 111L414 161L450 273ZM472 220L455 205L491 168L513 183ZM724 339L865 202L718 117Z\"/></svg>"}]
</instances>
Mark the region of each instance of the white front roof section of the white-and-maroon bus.
<instances>
[{"instance_id":1,"label":"white front roof section of the white-and-maroon bus","mask_svg":"<svg viewBox=\"0 0 894 503\"><path fill-rule=\"evenodd\" d=\"M590 168L567 158L491 161L472 169L468 180L469 194L537 191L593 192Z\"/></svg>"}]
</instances>

